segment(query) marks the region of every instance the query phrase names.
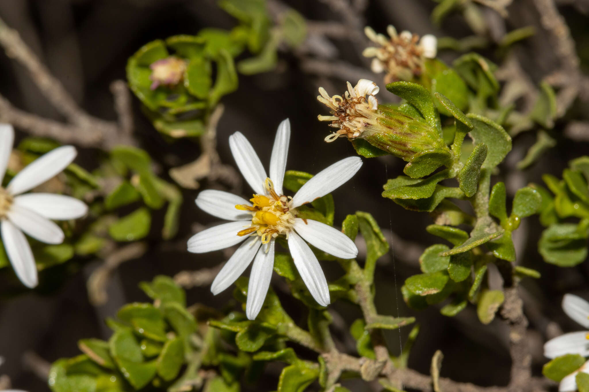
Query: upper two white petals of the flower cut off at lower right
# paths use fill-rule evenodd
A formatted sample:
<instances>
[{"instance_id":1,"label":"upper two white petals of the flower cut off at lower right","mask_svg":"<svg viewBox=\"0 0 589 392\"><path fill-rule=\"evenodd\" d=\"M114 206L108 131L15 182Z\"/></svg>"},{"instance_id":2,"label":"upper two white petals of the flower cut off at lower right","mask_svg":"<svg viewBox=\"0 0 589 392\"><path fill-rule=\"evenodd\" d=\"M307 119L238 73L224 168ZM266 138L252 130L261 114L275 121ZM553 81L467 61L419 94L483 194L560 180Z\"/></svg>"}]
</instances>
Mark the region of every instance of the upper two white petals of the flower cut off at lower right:
<instances>
[{"instance_id":1,"label":"upper two white petals of the flower cut off at lower right","mask_svg":"<svg viewBox=\"0 0 589 392\"><path fill-rule=\"evenodd\" d=\"M568 317L589 329L589 302L573 294L565 294L562 310ZM565 354L589 356L589 331L565 333L544 344L544 356L550 359Z\"/></svg>"}]
</instances>

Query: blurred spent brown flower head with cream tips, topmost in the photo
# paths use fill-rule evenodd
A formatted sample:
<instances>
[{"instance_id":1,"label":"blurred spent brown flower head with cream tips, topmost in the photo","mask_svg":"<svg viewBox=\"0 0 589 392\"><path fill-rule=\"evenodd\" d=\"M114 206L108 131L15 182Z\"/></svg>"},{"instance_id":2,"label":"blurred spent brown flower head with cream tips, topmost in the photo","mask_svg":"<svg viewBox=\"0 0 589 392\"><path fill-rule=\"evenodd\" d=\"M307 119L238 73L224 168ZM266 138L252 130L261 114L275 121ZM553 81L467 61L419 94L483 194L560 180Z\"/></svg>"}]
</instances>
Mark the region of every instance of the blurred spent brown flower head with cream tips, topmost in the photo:
<instances>
[{"instance_id":1,"label":"blurred spent brown flower head with cream tips, topmost in the photo","mask_svg":"<svg viewBox=\"0 0 589 392\"><path fill-rule=\"evenodd\" d=\"M372 72L386 72L385 83L411 81L415 76L421 75L424 59L436 56L438 47L436 37L426 34L420 40L419 35L409 31L398 34L391 25L386 31L389 33L389 38L377 34L368 26L364 29L370 41L378 44L362 52L363 56L373 58L370 65Z\"/></svg>"}]
</instances>

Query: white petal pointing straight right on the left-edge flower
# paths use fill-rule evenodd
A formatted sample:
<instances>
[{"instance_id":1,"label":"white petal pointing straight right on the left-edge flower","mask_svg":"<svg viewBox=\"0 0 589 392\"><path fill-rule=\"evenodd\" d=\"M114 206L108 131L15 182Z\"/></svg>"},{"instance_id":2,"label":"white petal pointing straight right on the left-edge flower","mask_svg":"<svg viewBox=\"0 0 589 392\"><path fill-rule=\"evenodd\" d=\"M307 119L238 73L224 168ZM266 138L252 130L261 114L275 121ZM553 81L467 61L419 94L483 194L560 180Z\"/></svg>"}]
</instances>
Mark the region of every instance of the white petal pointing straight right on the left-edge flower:
<instances>
[{"instance_id":1,"label":"white petal pointing straight right on the left-edge flower","mask_svg":"<svg viewBox=\"0 0 589 392\"><path fill-rule=\"evenodd\" d=\"M86 215L88 206L75 197L53 193L27 193L14 198L14 204L32 210L47 219L70 220Z\"/></svg>"}]
</instances>

